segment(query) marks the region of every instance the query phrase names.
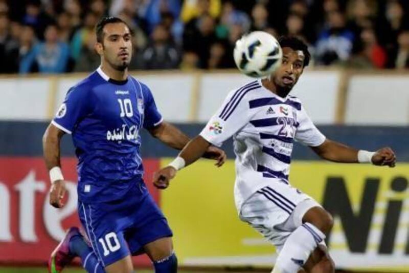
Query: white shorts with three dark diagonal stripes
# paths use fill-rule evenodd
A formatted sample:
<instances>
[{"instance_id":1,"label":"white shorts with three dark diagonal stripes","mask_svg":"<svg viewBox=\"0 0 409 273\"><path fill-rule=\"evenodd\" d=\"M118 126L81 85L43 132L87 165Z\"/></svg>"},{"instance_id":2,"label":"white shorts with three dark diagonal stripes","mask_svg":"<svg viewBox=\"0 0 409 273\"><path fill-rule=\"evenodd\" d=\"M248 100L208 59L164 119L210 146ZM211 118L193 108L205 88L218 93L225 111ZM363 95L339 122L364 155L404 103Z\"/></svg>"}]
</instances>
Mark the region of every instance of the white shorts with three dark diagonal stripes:
<instances>
[{"instance_id":1,"label":"white shorts with three dark diagonal stripes","mask_svg":"<svg viewBox=\"0 0 409 273\"><path fill-rule=\"evenodd\" d=\"M321 207L297 188L275 182L249 197L241 206L239 216L280 251L287 237L302 225L304 214L315 206Z\"/></svg>"}]
</instances>

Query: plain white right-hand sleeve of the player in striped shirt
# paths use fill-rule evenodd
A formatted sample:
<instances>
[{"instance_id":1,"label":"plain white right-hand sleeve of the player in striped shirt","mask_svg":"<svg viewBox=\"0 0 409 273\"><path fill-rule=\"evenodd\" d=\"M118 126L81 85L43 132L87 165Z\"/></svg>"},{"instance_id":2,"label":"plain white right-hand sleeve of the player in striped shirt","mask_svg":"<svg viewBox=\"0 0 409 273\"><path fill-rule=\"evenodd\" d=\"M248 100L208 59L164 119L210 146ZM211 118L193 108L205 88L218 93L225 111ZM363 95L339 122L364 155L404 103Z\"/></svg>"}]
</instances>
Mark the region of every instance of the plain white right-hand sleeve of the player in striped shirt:
<instances>
[{"instance_id":1,"label":"plain white right-hand sleeve of the player in striped shirt","mask_svg":"<svg viewBox=\"0 0 409 273\"><path fill-rule=\"evenodd\" d=\"M297 141L312 147L320 146L324 143L325 136L312 123L304 107L301 107L298 121L299 126L294 137Z\"/></svg>"}]
</instances>

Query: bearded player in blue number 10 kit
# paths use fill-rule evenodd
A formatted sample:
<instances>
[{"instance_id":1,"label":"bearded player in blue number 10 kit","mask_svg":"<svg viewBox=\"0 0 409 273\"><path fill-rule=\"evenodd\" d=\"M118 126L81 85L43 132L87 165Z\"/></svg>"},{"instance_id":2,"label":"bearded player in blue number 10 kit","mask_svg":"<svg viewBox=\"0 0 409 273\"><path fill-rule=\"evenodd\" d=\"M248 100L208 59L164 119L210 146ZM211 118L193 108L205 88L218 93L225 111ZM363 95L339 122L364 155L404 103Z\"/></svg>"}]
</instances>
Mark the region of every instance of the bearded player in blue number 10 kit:
<instances>
[{"instance_id":1,"label":"bearded player in blue number 10 kit","mask_svg":"<svg viewBox=\"0 0 409 273\"><path fill-rule=\"evenodd\" d=\"M181 150L189 138L164 122L152 93L128 75L131 33L119 18L96 27L101 66L71 88L43 137L52 182L50 203L62 207L65 182L60 139L72 134L78 157L78 214L89 243L72 227L53 251L49 271L60 272L79 256L88 272L131 272L131 255L146 253L156 272L176 272L172 231L142 180L140 130ZM207 158L221 166L222 150Z\"/></svg>"}]
</instances>

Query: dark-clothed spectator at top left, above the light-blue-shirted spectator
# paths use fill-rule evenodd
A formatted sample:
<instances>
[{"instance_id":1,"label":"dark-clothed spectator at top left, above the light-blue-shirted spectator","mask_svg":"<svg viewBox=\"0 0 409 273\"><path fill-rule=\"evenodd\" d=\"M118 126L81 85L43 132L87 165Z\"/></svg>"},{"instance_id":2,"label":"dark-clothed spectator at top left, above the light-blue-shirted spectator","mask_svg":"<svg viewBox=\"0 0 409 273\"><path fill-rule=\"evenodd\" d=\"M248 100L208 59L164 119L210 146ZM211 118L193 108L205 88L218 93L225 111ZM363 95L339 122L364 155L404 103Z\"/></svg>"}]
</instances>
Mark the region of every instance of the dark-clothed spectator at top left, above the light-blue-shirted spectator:
<instances>
[{"instance_id":1,"label":"dark-clothed spectator at top left, above the light-blue-shirted spectator","mask_svg":"<svg viewBox=\"0 0 409 273\"><path fill-rule=\"evenodd\" d=\"M48 25L54 23L54 20L41 11L40 0L32 0L26 6L26 14L24 15L22 23L33 26L36 36L39 39L43 39L44 30Z\"/></svg>"}]
</instances>

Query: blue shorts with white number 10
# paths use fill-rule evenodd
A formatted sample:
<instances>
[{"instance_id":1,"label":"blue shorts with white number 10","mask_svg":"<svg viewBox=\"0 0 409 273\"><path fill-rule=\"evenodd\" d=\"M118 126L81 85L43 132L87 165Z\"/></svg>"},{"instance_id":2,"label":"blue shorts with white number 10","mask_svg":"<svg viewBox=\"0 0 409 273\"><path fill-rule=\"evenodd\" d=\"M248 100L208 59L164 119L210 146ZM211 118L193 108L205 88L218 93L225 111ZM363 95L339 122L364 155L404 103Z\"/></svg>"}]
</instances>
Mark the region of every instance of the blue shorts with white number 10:
<instances>
[{"instance_id":1,"label":"blue shorts with white number 10","mask_svg":"<svg viewBox=\"0 0 409 273\"><path fill-rule=\"evenodd\" d=\"M105 266L128 255L143 253L143 246L172 237L162 214L143 181L121 200L78 202L78 214L94 252Z\"/></svg>"}]
</instances>

